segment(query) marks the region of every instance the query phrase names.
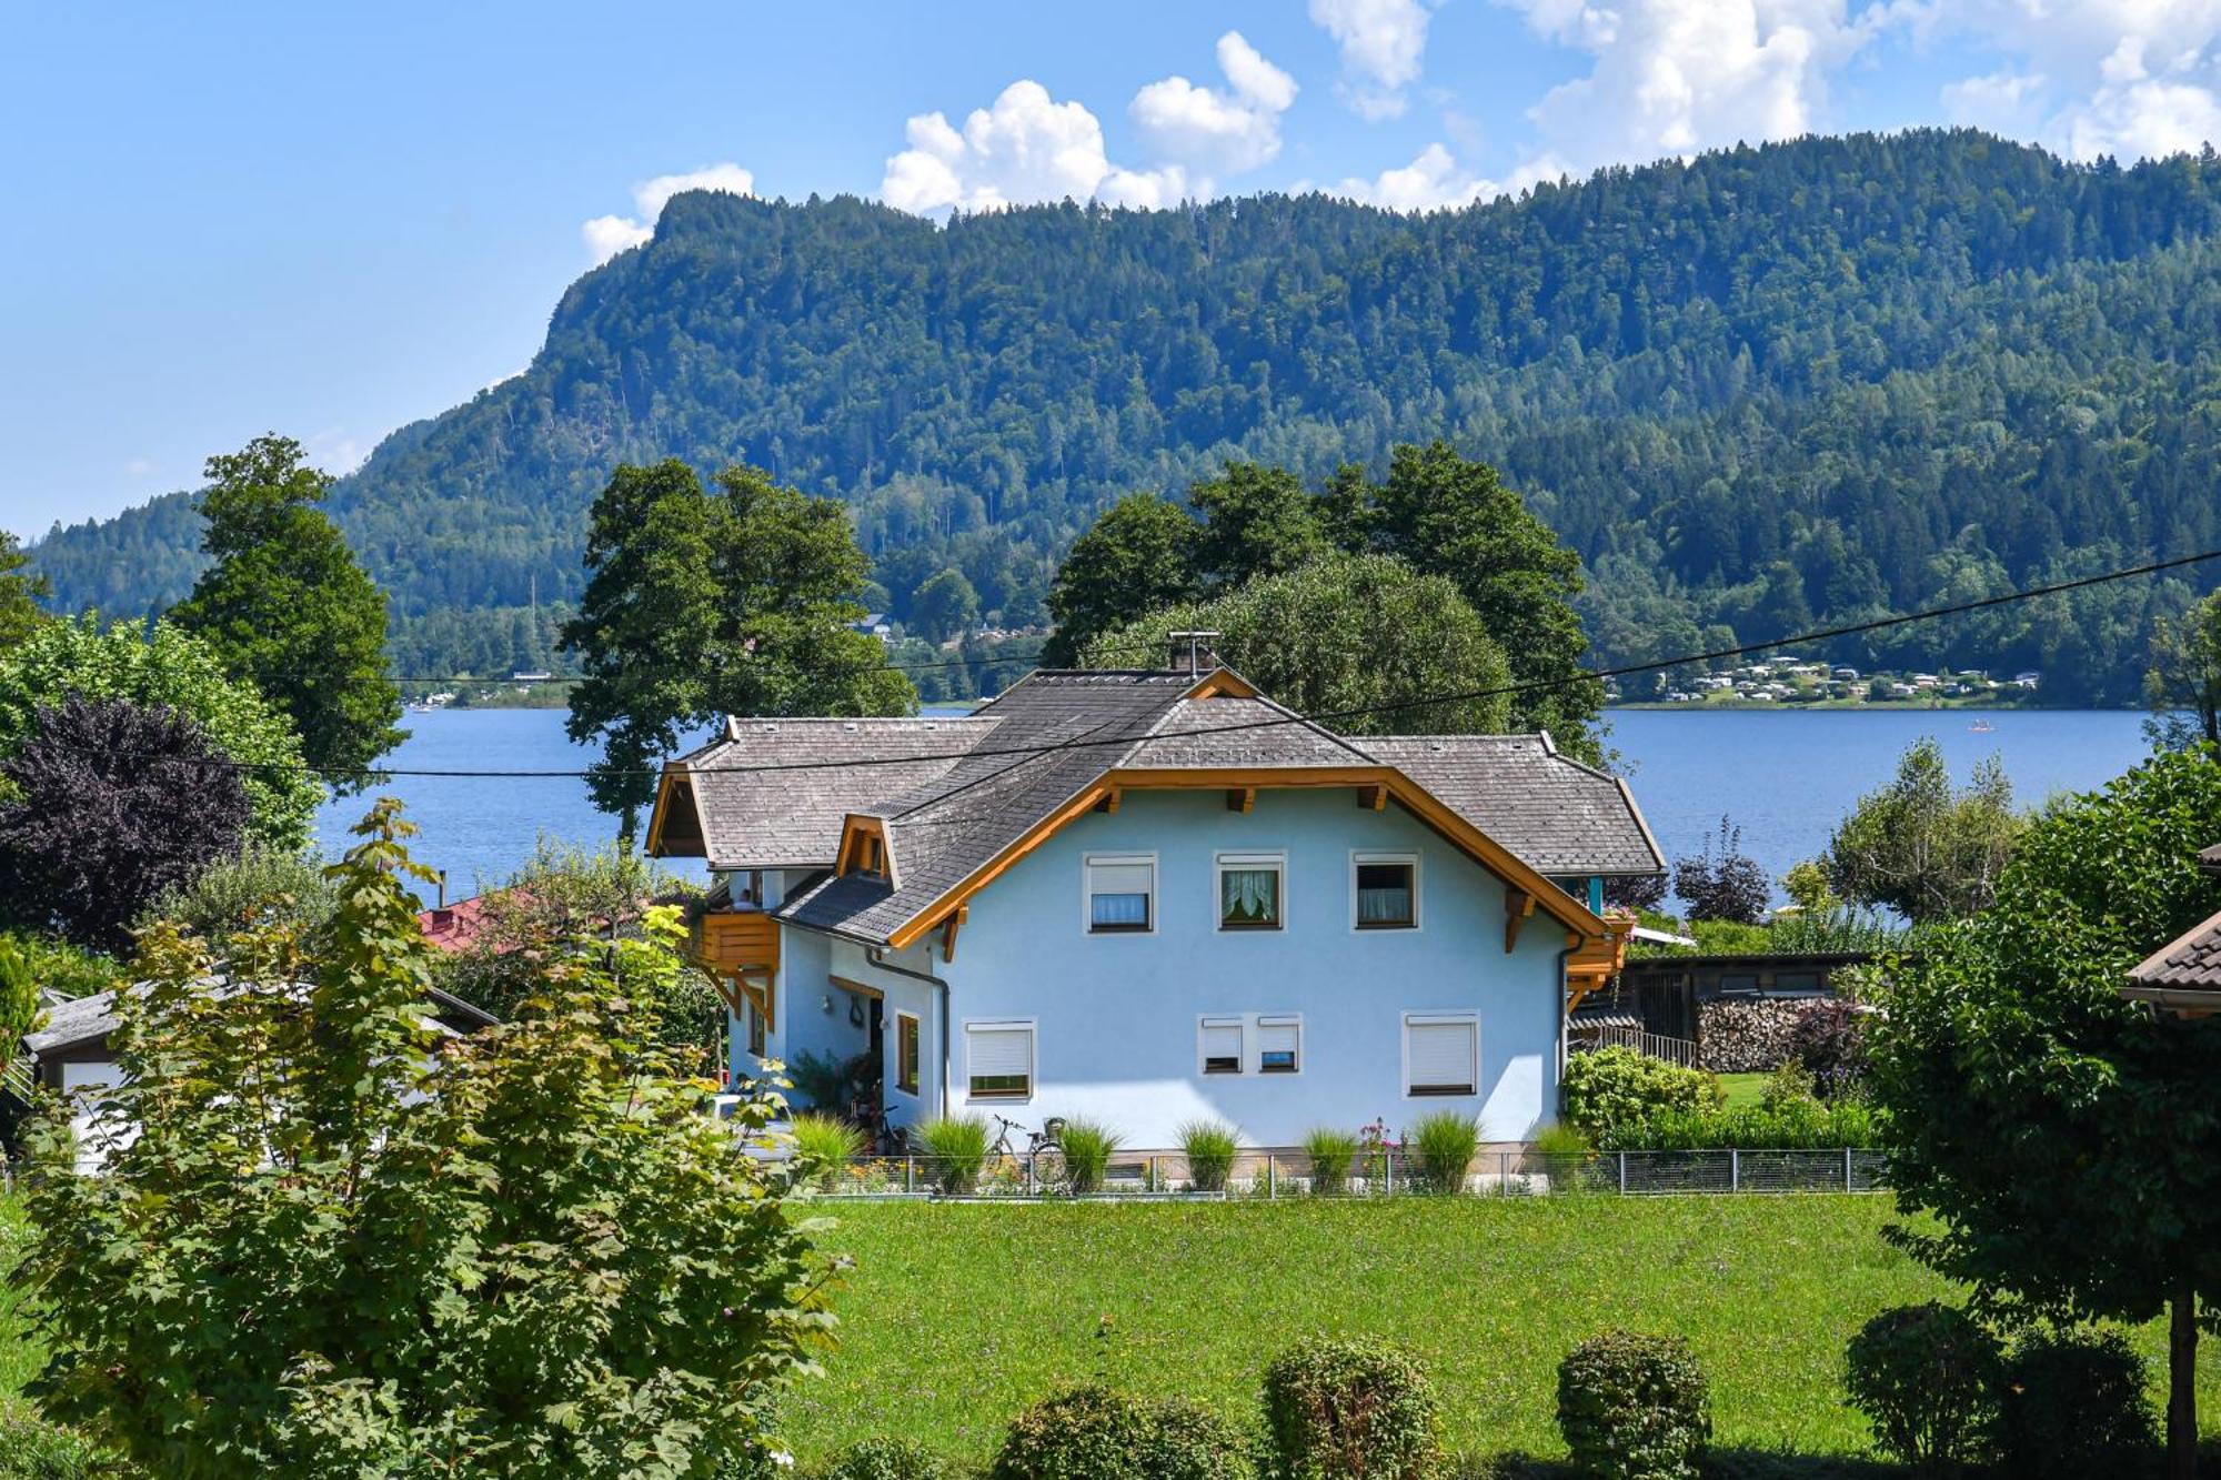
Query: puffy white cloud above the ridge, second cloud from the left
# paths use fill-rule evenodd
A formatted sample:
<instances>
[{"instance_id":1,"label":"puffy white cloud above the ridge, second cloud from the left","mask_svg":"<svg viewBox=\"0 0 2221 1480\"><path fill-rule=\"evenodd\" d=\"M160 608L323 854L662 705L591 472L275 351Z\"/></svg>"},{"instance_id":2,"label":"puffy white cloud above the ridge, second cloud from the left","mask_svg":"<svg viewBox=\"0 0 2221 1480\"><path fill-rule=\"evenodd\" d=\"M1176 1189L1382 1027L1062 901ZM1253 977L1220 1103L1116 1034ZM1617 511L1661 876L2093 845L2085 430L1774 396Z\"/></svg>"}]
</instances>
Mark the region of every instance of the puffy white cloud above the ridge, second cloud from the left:
<instances>
[{"instance_id":1,"label":"puffy white cloud above the ridge, second cloud from the left","mask_svg":"<svg viewBox=\"0 0 2221 1480\"><path fill-rule=\"evenodd\" d=\"M993 211L1035 200L1088 200L1110 173L1104 131L1079 102L1057 102L1031 78L973 109L959 133L944 113L906 127L911 147L886 162L880 196L902 211Z\"/></svg>"}]
</instances>

